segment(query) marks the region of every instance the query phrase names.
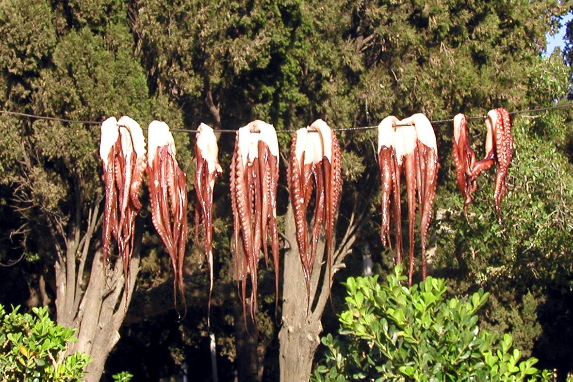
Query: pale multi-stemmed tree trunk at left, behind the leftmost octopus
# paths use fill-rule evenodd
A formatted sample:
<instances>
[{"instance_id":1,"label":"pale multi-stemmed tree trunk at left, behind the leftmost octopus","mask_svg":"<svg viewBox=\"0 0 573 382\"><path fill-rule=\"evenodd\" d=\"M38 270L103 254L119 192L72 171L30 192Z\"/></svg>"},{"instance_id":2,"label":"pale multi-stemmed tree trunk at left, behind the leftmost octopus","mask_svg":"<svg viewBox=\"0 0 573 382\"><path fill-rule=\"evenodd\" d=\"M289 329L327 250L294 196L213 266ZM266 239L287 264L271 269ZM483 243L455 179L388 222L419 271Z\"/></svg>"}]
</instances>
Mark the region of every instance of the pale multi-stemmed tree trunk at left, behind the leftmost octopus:
<instances>
[{"instance_id":1,"label":"pale multi-stemmed tree trunk at left, behind the leftmost octopus","mask_svg":"<svg viewBox=\"0 0 573 382\"><path fill-rule=\"evenodd\" d=\"M92 209L83 236L80 235L80 221L70 223L65 254L58 254L55 265L57 322L77 329L77 341L70 344L68 354L82 352L92 358L86 368L86 382L101 379L107 356L119 341L119 328L127 313L139 271L143 228L138 217L126 293L121 258L110 256L112 267L104 271L101 248L97 251L91 248L100 218L98 212L97 206ZM89 275L84 272L88 255L93 256Z\"/></svg>"}]
</instances>

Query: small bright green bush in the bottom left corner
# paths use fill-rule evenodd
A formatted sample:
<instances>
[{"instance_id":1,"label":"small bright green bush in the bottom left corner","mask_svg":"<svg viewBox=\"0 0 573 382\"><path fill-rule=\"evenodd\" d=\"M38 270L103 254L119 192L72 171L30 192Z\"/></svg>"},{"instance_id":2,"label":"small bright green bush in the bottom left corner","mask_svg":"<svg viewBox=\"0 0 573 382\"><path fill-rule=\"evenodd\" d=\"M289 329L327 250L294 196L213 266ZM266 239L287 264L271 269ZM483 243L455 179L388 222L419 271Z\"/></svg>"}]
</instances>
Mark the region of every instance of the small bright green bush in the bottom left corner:
<instances>
[{"instance_id":1,"label":"small bright green bush in the bottom left corner","mask_svg":"<svg viewBox=\"0 0 573 382\"><path fill-rule=\"evenodd\" d=\"M82 353L65 356L74 330L56 325L47 307L19 314L18 307L6 314L0 305L0 381L83 380L89 357Z\"/></svg>"}]
</instances>

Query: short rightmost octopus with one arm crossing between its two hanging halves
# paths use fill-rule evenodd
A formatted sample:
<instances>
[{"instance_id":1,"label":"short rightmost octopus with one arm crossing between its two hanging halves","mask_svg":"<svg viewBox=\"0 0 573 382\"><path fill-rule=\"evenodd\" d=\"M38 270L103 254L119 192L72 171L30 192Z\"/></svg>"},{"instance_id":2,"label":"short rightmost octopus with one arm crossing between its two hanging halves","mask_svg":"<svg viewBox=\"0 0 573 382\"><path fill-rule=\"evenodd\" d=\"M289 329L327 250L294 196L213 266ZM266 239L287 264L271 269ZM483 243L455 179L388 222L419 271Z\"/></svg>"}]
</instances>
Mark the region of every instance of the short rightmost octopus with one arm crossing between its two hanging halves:
<instances>
[{"instance_id":1,"label":"short rightmost octopus with one arm crossing between its two hanging halves","mask_svg":"<svg viewBox=\"0 0 573 382\"><path fill-rule=\"evenodd\" d=\"M472 202L471 194L477 188L477 177L494 164L496 165L493 199L497 219L501 224L501 200L507 193L505 177L507 177L509 165L513 158L513 135L509 112L504 108L490 110L485 119L485 126L487 129L485 157L476 162L475 155L467 141L466 118L463 114L454 117L454 165L456 166L458 188L465 197L464 212Z\"/></svg>"}]
</instances>

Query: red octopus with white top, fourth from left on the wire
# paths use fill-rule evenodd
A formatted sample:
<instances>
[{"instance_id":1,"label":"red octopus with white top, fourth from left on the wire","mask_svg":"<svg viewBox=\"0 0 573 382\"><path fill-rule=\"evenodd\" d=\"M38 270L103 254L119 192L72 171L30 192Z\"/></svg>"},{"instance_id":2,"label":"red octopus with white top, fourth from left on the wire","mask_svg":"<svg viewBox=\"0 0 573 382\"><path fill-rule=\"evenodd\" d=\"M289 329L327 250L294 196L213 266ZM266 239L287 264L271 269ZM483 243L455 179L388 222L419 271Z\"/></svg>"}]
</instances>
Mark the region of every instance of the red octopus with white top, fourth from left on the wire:
<instances>
[{"instance_id":1,"label":"red octopus with white top, fourth from left on the wire","mask_svg":"<svg viewBox=\"0 0 573 382\"><path fill-rule=\"evenodd\" d=\"M253 319L257 307L258 259L262 249L268 260L269 236L278 295L277 185L276 131L272 125L255 120L237 131L230 180L237 278L245 313L246 284L250 279L249 313Z\"/></svg>"}]
</instances>

